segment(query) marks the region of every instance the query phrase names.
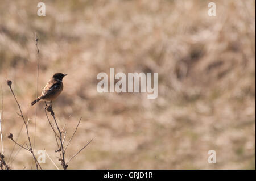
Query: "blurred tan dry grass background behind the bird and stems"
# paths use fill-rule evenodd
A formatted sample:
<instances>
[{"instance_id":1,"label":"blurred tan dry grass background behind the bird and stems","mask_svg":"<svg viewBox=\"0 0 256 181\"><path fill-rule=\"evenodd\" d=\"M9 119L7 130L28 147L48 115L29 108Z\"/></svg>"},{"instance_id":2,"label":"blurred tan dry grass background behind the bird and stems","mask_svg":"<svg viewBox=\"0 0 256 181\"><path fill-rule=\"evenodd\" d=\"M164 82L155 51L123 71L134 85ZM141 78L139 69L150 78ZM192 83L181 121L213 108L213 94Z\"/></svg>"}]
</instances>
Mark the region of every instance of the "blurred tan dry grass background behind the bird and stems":
<instances>
[{"instance_id":1,"label":"blurred tan dry grass background behind the bird and stems","mask_svg":"<svg viewBox=\"0 0 256 181\"><path fill-rule=\"evenodd\" d=\"M37 15L38 2L0 2L0 109L12 169L35 166L6 136L15 140L23 125L7 79L30 119L35 151L46 149L61 168L44 103L29 105L35 32L38 94L53 73L68 74L53 102L67 140L82 117L66 157L94 137L68 169L255 169L255 1L214 1L216 16L199 0L43 1L46 16ZM97 74L109 68L158 72L158 98L98 93ZM18 142L25 141L23 127ZM216 164L208 163L209 150ZM48 158L42 167L55 169Z\"/></svg>"}]
</instances>

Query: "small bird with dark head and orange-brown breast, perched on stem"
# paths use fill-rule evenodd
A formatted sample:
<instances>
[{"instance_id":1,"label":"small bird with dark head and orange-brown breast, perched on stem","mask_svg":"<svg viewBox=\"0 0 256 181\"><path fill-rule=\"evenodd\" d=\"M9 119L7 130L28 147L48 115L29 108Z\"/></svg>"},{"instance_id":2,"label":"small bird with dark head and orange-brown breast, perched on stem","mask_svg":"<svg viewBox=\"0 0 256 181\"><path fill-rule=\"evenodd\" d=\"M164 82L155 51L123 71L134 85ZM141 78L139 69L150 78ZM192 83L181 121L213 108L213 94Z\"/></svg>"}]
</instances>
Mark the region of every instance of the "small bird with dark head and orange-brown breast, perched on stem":
<instances>
[{"instance_id":1,"label":"small bird with dark head and orange-brown breast, perched on stem","mask_svg":"<svg viewBox=\"0 0 256 181\"><path fill-rule=\"evenodd\" d=\"M48 81L46 86L44 87L42 94L38 96L35 100L33 100L30 105L33 106L35 103L43 100L44 102L55 100L57 96L60 95L61 91L63 90L63 82L62 79L67 74L63 73L55 73L53 74L52 78Z\"/></svg>"}]
</instances>

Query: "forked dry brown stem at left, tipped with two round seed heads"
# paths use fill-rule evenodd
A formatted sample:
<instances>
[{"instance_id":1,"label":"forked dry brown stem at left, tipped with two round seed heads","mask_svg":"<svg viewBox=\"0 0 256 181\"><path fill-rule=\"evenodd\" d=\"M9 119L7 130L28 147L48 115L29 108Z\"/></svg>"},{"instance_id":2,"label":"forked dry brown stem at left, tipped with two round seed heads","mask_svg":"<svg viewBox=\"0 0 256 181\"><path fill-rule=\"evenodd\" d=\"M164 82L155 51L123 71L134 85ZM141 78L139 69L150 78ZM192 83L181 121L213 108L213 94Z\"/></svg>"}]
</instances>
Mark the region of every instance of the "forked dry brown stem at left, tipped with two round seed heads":
<instances>
[{"instance_id":1,"label":"forked dry brown stem at left, tipped with two round seed heads","mask_svg":"<svg viewBox=\"0 0 256 181\"><path fill-rule=\"evenodd\" d=\"M29 149L26 149L26 148L24 148L23 146L22 146L22 148L24 148L24 149L30 151L30 153L32 153L32 156L33 156L34 161L35 161L36 169L38 169L38 167L39 167L40 169L42 169L42 167L41 167L40 164L38 163L38 160L36 159L35 154L34 154L34 151L33 151L33 149L32 149L31 140L30 140L30 134L28 133L28 125L27 125L27 123L26 123L26 121L25 121L25 119L24 119L24 116L23 116L22 110L21 110L21 108L20 108L19 102L18 102L18 100L16 99L16 96L14 95L14 92L13 92L13 89L11 88L11 85L9 85L9 87L10 87L11 93L12 93L13 96L14 96L14 99L16 100L16 103L18 104L19 111L20 111L20 116L22 117L22 119L23 119L23 121L24 121L24 125L25 125L25 127L26 127L26 132L27 132L27 137L28 137L28 143L29 143L30 148L29 148ZM13 139L12 139L12 140L13 140ZM13 141L14 141L14 140L13 140ZM14 142L15 142L15 141L14 141ZM15 143L18 144L17 142L15 142ZM19 145L19 144L18 144L18 145ZM19 146L21 146L21 145L19 145Z\"/></svg>"}]
</instances>

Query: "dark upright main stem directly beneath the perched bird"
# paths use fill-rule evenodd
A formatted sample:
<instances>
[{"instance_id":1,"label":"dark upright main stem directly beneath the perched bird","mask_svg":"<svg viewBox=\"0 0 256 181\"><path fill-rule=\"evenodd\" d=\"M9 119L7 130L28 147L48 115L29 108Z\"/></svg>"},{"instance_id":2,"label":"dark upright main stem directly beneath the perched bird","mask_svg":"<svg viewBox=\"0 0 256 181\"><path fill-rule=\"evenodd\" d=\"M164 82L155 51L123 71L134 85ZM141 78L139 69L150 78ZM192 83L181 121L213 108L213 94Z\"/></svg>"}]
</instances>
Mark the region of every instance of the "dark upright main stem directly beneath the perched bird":
<instances>
[{"instance_id":1,"label":"dark upright main stem directly beneath the perched bird","mask_svg":"<svg viewBox=\"0 0 256 181\"><path fill-rule=\"evenodd\" d=\"M46 104L46 102L45 102L45 104ZM56 118L55 118L55 114L54 114L53 109L52 109L52 102L51 102L50 106L48 106L46 104L46 110L51 112L51 116L53 117L53 120L55 121L55 124L56 124L56 127L57 127L57 131L59 132L58 138L60 140L60 148L57 151L61 151L61 156L62 156L62 158L61 158L61 165L62 165L64 170L67 170L68 165L65 163L65 153L64 153L64 147L63 147L62 132L60 131L59 125L57 124L57 121L56 121Z\"/></svg>"}]
</instances>

